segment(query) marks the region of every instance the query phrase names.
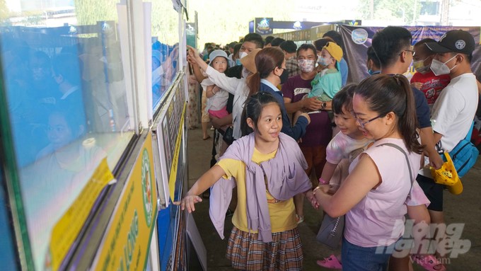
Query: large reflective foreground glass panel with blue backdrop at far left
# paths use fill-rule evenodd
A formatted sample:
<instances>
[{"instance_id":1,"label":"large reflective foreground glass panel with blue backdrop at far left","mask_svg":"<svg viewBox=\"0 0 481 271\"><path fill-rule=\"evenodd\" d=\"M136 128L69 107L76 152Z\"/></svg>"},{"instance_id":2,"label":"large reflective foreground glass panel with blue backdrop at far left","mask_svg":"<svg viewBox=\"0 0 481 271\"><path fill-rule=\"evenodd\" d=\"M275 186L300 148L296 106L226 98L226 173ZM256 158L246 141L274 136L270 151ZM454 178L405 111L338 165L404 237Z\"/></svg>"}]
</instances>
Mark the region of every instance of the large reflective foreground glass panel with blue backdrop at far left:
<instances>
[{"instance_id":1,"label":"large reflective foreground glass panel with blue backdrop at far left","mask_svg":"<svg viewBox=\"0 0 481 271\"><path fill-rule=\"evenodd\" d=\"M2 6L2 83L36 270L49 269L54 224L98 163L107 156L113 168L133 135L117 2Z\"/></svg>"}]
</instances>

